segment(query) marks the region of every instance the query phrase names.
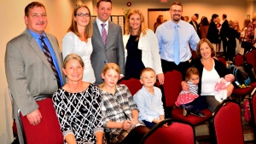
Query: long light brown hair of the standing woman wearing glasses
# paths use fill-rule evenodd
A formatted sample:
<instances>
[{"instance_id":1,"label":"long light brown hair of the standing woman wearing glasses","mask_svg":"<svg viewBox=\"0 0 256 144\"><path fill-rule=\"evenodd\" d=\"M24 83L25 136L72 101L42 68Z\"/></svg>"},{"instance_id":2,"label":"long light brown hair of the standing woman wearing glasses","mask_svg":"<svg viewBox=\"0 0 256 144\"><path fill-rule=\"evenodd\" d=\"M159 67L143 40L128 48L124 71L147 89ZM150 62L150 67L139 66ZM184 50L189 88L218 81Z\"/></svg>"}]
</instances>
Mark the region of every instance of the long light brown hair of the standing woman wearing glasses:
<instances>
[{"instance_id":1,"label":"long light brown hair of the standing woman wearing glasses","mask_svg":"<svg viewBox=\"0 0 256 144\"><path fill-rule=\"evenodd\" d=\"M77 21L74 20L74 17L77 15L78 10L79 10L80 8L82 8L82 7L84 7L85 9L88 9L89 14L90 14L90 9L89 9L86 5L81 4L81 5L76 6L76 7L73 9L71 25L70 25L69 28L67 29L67 32L73 32L73 33L76 34L78 37L81 37L81 36L80 36L79 30L78 30ZM90 37L92 36L92 33L93 33L93 29L92 29L92 22L91 22L91 16L90 16L90 21L89 21L89 24L86 26L84 35L85 35L87 38L90 38Z\"/></svg>"}]
</instances>

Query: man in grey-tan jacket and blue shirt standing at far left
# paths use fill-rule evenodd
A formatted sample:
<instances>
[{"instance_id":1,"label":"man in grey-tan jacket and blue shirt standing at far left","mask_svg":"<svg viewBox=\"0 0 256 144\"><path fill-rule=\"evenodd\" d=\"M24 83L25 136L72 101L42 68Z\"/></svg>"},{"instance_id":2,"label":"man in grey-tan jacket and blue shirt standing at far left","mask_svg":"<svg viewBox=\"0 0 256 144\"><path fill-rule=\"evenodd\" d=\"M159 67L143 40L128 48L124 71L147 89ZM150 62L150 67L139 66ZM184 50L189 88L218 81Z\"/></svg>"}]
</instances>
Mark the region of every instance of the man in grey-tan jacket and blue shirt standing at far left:
<instances>
[{"instance_id":1,"label":"man in grey-tan jacket and blue shirt standing at far left","mask_svg":"<svg viewBox=\"0 0 256 144\"><path fill-rule=\"evenodd\" d=\"M64 82L61 72L62 57L57 38L44 32L47 26L47 14L42 3L32 2L25 8L26 30L7 43L5 53L5 71L9 89L13 96L13 117L18 129L20 144L23 144L22 132L17 118L18 109L26 117L33 129L39 129L42 118L35 97L53 95ZM52 65L44 55L44 43L49 49ZM43 44L42 44L43 43ZM55 67L55 71L53 66ZM44 99L43 99L44 100ZM42 110L44 107L40 107ZM36 135L36 134L35 134ZM47 139L47 137L44 137Z\"/></svg>"}]
</instances>

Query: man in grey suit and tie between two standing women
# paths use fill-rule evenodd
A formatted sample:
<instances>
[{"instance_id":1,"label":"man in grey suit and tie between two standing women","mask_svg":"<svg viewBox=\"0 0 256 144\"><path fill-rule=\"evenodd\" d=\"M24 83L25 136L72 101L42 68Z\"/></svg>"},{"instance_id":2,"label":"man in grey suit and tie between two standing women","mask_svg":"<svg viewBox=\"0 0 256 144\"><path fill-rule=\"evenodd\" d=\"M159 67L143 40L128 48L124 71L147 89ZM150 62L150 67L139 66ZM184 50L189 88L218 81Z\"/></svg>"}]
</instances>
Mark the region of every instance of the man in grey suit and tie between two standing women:
<instances>
[{"instance_id":1,"label":"man in grey suit and tie between two standing women","mask_svg":"<svg viewBox=\"0 0 256 144\"><path fill-rule=\"evenodd\" d=\"M116 63L120 67L121 77L125 74L125 49L122 29L121 26L108 20L111 10L111 0L99 0L96 3L97 17L93 23L93 35L91 37L93 51L90 55L91 65L96 76L96 84L102 84L102 68L109 62ZM104 31L107 31L107 33L104 33ZM106 34L107 40L104 41L102 36Z\"/></svg>"}]
</instances>

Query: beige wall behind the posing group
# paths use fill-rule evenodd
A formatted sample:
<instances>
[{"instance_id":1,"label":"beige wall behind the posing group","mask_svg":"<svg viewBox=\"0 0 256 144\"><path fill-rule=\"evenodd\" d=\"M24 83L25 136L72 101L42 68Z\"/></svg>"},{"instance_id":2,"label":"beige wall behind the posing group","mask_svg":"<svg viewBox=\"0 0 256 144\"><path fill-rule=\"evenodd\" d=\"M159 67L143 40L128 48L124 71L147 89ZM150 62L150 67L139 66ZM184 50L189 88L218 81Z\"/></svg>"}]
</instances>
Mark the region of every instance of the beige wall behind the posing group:
<instances>
[{"instance_id":1,"label":"beige wall behind the posing group","mask_svg":"<svg viewBox=\"0 0 256 144\"><path fill-rule=\"evenodd\" d=\"M140 9L145 16L147 25L148 9L169 9L171 4L171 1L160 3L160 0L130 1L132 3L131 7L127 7L126 3L128 1L113 0L112 14L121 15L125 9ZM26 26L23 20L24 8L27 3L31 2L32 0L2 0L0 5L0 140L3 144L9 144L11 141L10 137L12 137L11 107L4 71L5 46L12 37L19 35L25 30ZM44 3L48 12L49 25L46 32L54 34L58 38L60 45L61 38L67 32L67 27L70 25L71 14L76 3L87 4L91 13L96 14L96 0L39 0L39 2ZM240 24L247 14L252 15L255 12L255 2L251 0L181 0L181 2L183 3L183 15L189 15L190 17L192 14L198 13L200 17L203 15L210 17L213 13L219 15L225 13L228 14L228 19L239 20Z\"/></svg>"}]
</instances>

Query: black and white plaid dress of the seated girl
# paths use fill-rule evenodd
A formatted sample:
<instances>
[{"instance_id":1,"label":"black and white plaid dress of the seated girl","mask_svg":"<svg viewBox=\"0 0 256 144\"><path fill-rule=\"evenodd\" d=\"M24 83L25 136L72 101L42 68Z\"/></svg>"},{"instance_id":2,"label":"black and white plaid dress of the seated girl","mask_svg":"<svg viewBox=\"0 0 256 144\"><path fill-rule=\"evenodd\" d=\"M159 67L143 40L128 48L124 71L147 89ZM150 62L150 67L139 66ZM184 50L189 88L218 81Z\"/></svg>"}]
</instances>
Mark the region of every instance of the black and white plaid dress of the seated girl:
<instances>
[{"instance_id":1,"label":"black and white plaid dress of the seated girl","mask_svg":"<svg viewBox=\"0 0 256 144\"><path fill-rule=\"evenodd\" d=\"M117 84L116 91L110 94L101 90L102 95L102 117L103 125L106 127L108 121L124 122L126 119L131 119L131 111L137 110L137 105L134 103L130 90L125 84ZM124 113L125 112L125 113ZM125 114L128 118L125 117ZM143 122L139 122L143 125ZM131 130L123 129L108 129L110 142L113 144L123 141Z\"/></svg>"}]
</instances>

